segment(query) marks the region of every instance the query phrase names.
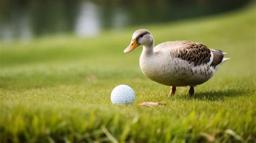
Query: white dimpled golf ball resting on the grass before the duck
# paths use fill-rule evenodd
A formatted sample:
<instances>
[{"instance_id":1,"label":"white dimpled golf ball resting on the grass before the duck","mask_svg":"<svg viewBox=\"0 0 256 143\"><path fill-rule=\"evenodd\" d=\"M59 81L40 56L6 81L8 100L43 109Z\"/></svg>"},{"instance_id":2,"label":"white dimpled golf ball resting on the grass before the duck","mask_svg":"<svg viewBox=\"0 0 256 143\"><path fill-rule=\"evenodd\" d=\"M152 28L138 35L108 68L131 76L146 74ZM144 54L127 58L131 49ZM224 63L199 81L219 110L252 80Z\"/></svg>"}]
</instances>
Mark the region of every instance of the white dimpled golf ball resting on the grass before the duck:
<instances>
[{"instance_id":1,"label":"white dimpled golf ball resting on the grass before the duck","mask_svg":"<svg viewBox=\"0 0 256 143\"><path fill-rule=\"evenodd\" d=\"M112 90L110 99L113 104L131 104L135 93L128 85L118 85Z\"/></svg>"}]
</instances>

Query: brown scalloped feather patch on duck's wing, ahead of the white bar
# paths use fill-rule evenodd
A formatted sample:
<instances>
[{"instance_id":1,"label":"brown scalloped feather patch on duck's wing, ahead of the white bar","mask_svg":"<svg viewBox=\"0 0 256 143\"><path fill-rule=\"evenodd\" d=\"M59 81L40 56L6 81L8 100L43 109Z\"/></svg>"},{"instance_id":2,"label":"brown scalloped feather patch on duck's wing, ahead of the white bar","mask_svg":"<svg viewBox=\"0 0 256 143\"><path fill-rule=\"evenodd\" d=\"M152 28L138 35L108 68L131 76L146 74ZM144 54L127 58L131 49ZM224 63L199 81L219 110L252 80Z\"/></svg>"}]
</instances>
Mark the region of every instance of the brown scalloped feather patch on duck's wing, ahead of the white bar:
<instances>
[{"instance_id":1,"label":"brown scalloped feather patch on duck's wing, ahead of the white bar","mask_svg":"<svg viewBox=\"0 0 256 143\"><path fill-rule=\"evenodd\" d=\"M183 42L183 48L180 49L178 58L187 60L195 66L207 64L210 62L211 50L205 45L194 42Z\"/></svg>"}]
</instances>

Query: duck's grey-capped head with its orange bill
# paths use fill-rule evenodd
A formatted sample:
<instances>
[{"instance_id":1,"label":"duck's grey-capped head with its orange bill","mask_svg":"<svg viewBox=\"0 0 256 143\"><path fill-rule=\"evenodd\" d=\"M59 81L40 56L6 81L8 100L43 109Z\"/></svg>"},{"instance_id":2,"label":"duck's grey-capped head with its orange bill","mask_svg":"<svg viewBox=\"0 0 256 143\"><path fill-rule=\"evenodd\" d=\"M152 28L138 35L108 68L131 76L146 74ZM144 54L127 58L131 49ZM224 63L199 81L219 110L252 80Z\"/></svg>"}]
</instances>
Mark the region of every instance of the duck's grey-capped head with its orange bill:
<instances>
[{"instance_id":1,"label":"duck's grey-capped head with its orange bill","mask_svg":"<svg viewBox=\"0 0 256 143\"><path fill-rule=\"evenodd\" d=\"M149 30L139 29L133 33L131 44L124 50L124 53L131 52L140 45L147 47L152 44L153 36L149 32Z\"/></svg>"}]
</instances>

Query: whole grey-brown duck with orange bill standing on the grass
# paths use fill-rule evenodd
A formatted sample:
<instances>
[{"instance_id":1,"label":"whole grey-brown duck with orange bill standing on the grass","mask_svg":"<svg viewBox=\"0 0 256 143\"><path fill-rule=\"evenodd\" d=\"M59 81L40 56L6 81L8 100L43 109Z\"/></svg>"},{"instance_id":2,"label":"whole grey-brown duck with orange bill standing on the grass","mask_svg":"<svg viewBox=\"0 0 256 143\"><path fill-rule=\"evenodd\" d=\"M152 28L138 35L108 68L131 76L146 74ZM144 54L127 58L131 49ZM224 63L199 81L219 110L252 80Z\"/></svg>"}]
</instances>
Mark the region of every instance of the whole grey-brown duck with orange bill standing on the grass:
<instances>
[{"instance_id":1,"label":"whole grey-brown duck with orange bill standing on the grass","mask_svg":"<svg viewBox=\"0 0 256 143\"><path fill-rule=\"evenodd\" d=\"M194 87L211 79L219 66L230 59L224 58L226 53L221 50L189 40L169 41L154 47L154 38L146 29L133 33L124 53L138 46L143 46L139 58L143 74L159 84L170 86L169 96L173 96L179 86L190 86L188 93L193 96Z\"/></svg>"}]
</instances>

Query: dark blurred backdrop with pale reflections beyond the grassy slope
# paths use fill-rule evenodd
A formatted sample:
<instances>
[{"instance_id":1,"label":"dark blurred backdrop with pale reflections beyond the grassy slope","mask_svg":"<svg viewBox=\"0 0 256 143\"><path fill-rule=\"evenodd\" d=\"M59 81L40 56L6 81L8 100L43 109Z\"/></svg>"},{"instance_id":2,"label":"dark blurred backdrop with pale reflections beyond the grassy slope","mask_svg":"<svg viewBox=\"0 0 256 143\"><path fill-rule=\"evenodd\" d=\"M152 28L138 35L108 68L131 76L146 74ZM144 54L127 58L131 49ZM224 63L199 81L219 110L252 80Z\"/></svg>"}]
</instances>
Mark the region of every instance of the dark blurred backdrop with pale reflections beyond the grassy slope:
<instances>
[{"instance_id":1,"label":"dark blurred backdrop with pale reflections beyond the grassy slope","mask_svg":"<svg viewBox=\"0 0 256 143\"><path fill-rule=\"evenodd\" d=\"M96 37L104 30L170 22L241 8L248 0L1 0L0 42L44 35Z\"/></svg>"}]
</instances>

